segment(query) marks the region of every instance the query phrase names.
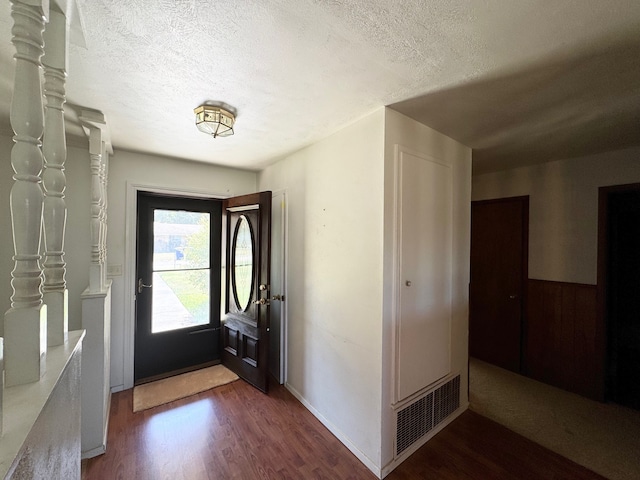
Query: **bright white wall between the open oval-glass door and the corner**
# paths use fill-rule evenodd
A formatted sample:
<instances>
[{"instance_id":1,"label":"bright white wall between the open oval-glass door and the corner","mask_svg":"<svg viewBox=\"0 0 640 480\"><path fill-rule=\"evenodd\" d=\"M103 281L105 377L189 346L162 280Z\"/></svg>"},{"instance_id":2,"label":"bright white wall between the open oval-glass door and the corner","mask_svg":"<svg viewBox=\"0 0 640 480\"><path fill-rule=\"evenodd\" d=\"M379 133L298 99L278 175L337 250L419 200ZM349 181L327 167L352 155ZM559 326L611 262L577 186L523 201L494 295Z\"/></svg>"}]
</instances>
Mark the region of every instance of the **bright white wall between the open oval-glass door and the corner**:
<instances>
[{"instance_id":1,"label":"bright white wall between the open oval-glass door and the corner","mask_svg":"<svg viewBox=\"0 0 640 480\"><path fill-rule=\"evenodd\" d=\"M288 199L287 387L380 468L384 110L263 170Z\"/></svg>"}]
</instances>

